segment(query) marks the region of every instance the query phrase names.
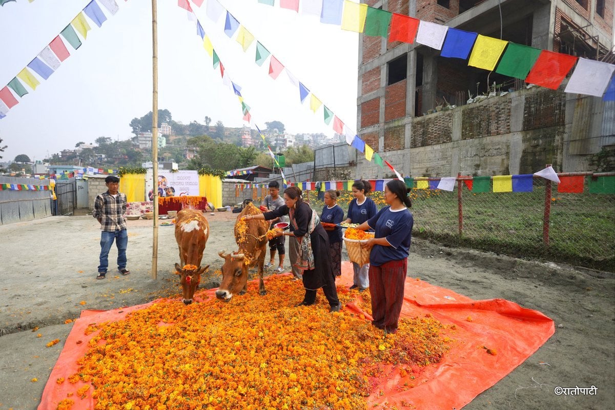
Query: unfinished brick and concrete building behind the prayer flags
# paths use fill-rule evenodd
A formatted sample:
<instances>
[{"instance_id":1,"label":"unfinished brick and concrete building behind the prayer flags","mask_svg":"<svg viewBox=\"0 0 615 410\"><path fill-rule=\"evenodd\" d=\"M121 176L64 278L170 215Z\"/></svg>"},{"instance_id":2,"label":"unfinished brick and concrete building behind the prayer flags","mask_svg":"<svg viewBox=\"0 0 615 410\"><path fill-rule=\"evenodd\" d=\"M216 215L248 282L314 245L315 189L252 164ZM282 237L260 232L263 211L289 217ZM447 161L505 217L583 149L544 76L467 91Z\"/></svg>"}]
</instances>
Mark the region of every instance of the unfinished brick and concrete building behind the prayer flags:
<instances>
[{"instance_id":1,"label":"unfinished brick and concrete building behind the prayer flags","mask_svg":"<svg viewBox=\"0 0 615 410\"><path fill-rule=\"evenodd\" d=\"M371 7L538 49L613 63L614 0L368 0ZM359 136L405 175L588 171L615 148L613 103L362 34ZM496 95L476 103L478 95ZM502 95L504 93L504 95ZM480 99L480 98L479 98ZM609 151L610 152L610 151ZM357 176L390 171L357 154Z\"/></svg>"}]
</instances>

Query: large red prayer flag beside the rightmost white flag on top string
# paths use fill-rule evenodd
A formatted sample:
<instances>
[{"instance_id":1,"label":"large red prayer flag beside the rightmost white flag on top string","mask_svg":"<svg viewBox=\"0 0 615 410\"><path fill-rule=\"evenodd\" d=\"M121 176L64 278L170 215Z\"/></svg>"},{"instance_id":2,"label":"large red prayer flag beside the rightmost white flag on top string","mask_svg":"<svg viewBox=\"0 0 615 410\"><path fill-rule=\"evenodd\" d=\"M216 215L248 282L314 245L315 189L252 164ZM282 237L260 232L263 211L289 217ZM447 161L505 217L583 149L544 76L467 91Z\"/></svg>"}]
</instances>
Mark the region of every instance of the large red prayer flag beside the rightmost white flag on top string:
<instances>
[{"instance_id":1,"label":"large red prayer flag beside the rightmost white flag on top string","mask_svg":"<svg viewBox=\"0 0 615 410\"><path fill-rule=\"evenodd\" d=\"M557 90L576 60L572 55L542 50L525 82Z\"/></svg>"}]
</instances>

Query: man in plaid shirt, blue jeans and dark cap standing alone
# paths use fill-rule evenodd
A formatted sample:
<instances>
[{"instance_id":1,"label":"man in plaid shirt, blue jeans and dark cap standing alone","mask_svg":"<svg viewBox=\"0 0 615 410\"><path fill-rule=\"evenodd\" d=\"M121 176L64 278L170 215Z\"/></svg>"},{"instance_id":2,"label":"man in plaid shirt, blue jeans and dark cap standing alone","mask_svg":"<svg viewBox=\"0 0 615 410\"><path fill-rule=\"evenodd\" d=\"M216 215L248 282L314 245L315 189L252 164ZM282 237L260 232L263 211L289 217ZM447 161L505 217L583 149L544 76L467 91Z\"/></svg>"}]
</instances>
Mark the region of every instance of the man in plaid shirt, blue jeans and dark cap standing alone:
<instances>
[{"instance_id":1,"label":"man in plaid shirt, blue jeans and dark cap standing alone","mask_svg":"<svg viewBox=\"0 0 615 410\"><path fill-rule=\"evenodd\" d=\"M128 232L124 213L128 205L126 194L118 192L119 178L109 175L105 178L107 192L96 197L94 203L94 218L100 223L100 266L98 266L97 279L104 279L109 266L108 256L113 241L117 245L117 270L122 275L130 274L126 269L126 247L128 246Z\"/></svg>"}]
</instances>

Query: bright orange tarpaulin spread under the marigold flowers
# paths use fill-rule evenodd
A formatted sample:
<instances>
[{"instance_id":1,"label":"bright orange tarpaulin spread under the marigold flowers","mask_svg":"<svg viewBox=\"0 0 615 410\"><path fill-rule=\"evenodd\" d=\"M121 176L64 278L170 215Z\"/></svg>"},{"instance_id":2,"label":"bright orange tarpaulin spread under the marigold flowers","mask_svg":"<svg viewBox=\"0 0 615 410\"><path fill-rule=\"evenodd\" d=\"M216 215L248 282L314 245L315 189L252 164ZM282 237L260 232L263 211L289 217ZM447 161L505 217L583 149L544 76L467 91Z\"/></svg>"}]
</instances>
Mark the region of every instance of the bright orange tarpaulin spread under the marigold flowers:
<instances>
[{"instance_id":1,"label":"bright orange tarpaulin spread under the marigold flowers","mask_svg":"<svg viewBox=\"0 0 615 410\"><path fill-rule=\"evenodd\" d=\"M343 262L342 271L342 277L336 282L338 286L348 286L352 283L351 263ZM204 294L215 298L214 291L207 290ZM261 296L248 293L242 297ZM57 384L56 380L77 372L79 366L76 362L87 352L88 341L94 336L84 334L90 323L121 320L128 313L154 303L156 301L106 311L84 310L75 321L47 380L39 410L56 409L58 402L65 399L67 393L84 385L81 380L76 384L70 384L68 380ZM356 305L349 304L343 310L358 309ZM367 313L362 313L369 317ZM523 363L555 331L550 318L514 302L504 299L474 301L422 280L407 278L402 317L424 316L427 313L445 325L455 325L451 350L438 365L416 368L420 377L416 377L416 373L402 377L389 365L367 398L368 408L384 403L399 407L403 401L405 405L411 404L416 409L461 409ZM77 344L78 341L81 343ZM486 353L483 346L495 350L497 354ZM411 376L415 376L415 379L410 380ZM415 387L408 388L410 384ZM91 409L94 406L91 388L85 393L84 399L76 396L70 398L76 402L73 406L75 409Z\"/></svg>"}]
</instances>

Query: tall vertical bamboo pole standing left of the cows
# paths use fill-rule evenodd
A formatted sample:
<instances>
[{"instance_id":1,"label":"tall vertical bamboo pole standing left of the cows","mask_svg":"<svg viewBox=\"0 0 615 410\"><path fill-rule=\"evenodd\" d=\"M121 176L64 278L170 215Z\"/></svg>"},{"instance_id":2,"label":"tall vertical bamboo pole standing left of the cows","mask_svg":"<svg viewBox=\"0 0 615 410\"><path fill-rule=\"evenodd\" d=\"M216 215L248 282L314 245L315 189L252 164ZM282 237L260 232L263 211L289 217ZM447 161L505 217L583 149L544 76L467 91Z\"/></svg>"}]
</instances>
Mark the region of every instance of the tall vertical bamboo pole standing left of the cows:
<instances>
[{"instance_id":1,"label":"tall vertical bamboo pole standing left of the cows","mask_svg":"<svg viewBox=\"0 0 615 410\"><path fill-rule=\"evenodd\" d=\"M152 0L152 167L154 193L154 235L152 244L152 279L158 274L158 29L156 0Z\"/></svg>"}]
</instances>

